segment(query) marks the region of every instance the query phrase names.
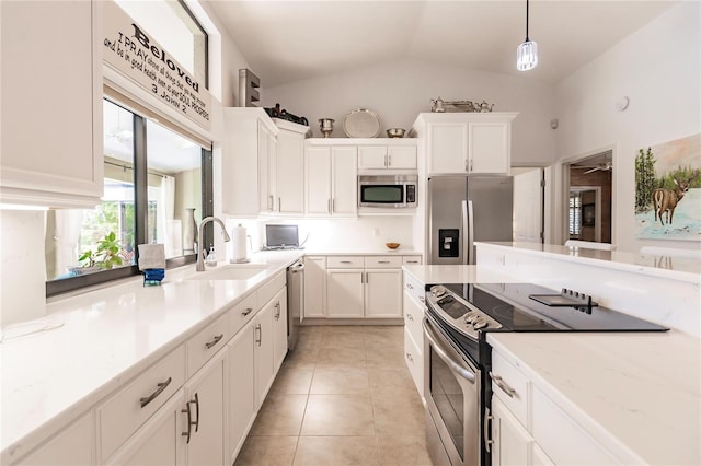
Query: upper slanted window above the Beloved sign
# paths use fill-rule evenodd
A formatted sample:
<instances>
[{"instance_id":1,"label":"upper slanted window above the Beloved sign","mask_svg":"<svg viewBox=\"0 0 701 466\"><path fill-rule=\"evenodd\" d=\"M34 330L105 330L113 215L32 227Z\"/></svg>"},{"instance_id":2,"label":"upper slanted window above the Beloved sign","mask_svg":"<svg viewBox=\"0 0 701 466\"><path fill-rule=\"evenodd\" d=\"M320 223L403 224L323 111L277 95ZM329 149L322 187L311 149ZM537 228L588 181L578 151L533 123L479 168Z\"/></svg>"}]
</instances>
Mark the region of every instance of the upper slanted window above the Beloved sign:
<instances>
[{"instance_id":1,"label":"upper slanted window above the Beloved sign","mask_svg":"<svg viewBox=\"0 0 701 466\"><path fill-rule=\"evenodd\" d=\"M184 2L116 0L116 3L208 88L207 33Z\"/></svg>"}]
</instances>

